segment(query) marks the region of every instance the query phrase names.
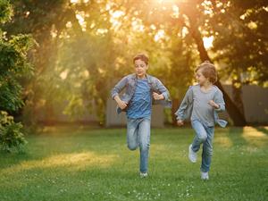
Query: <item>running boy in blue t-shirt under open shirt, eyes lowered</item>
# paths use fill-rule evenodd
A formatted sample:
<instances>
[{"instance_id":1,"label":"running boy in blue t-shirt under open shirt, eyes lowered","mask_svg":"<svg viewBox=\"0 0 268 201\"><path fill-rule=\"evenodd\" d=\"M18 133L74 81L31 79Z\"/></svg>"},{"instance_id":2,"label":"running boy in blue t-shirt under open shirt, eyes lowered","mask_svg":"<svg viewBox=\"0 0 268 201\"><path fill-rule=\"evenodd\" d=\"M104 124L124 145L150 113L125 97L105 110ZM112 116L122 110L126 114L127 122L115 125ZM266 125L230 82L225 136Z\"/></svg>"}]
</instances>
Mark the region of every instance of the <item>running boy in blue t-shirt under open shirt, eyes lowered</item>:
<instances>
[{"instance_id":1,"label":"running boy in blue t-shirt under open shirt, eyes lowered","mask_svg":"<svg viewBox=\"0 0 268 201\"><path fill-rule=\"evenodd\" d=\"M152 102L171 107L170 95L162 82L147 74L148 57L137 54L133 58L135 73L122 78L112 89L117 113L127 113L127 143L130 150L139 147L140 177L147 177L150 146ZM126 89L122 96L119 93Z\"/></svg>"}]
</instances>

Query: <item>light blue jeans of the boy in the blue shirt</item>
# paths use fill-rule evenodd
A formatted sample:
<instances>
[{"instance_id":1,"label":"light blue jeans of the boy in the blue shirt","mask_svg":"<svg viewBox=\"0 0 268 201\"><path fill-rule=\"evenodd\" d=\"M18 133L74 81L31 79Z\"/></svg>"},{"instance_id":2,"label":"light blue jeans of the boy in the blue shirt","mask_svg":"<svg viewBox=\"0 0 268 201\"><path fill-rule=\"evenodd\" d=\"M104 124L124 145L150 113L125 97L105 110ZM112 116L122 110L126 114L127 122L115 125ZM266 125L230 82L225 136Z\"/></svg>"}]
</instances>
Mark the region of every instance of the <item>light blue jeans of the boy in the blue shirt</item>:
<instances>
[{"instance_id":1,"label":"light blue jeans of the boy in the blue shirt","mask_svg":"<svg viewBox=\"0 0 268 201\"><path fill-rule=\"evenodd\" d=\"M130 150L139 147L139 171L148 171L148 156L150 147L151 119L150 117L131 119L128 118L127 142Z\"/></svg>"}]
</instances>

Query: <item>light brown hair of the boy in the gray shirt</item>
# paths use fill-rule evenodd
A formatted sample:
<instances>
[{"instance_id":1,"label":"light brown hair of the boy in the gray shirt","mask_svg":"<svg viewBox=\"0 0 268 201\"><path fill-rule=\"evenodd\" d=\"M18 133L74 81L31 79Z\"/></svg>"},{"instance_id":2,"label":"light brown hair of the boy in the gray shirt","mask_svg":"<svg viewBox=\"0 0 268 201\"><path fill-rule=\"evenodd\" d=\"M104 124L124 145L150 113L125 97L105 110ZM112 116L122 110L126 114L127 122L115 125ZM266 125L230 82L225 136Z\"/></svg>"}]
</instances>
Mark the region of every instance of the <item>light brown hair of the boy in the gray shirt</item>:
<instances>
[{"instance_id":1,"label":"light brown hair of the boy in the gray shirt","mask_svg":"<svg viewBox=\"0 0 268 201\"><path fill-rule=\"evenodd\" d=\"M213 63L205 61L197 66L195 72L197 72L199 69L202 70L204 77L210 80L213 84L217 81L217 71Z\"/></svg>"}]
</instances>

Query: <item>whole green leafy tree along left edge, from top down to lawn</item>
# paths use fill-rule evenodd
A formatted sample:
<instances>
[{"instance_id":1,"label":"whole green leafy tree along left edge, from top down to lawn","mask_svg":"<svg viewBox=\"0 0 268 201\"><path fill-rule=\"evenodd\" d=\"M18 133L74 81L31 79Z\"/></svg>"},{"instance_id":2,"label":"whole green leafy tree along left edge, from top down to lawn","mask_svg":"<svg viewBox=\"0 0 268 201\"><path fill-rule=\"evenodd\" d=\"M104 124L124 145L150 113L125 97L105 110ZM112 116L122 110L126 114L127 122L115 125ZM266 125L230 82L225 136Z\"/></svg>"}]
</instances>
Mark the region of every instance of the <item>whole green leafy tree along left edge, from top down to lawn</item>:
<instances>
[{"instance_id":1,"label":"whole green leafy tree along left edge, from top down to lawn","mask_svg":"<svg viewBox=\"0 0 268 201\"><path fill-rule=\"evenodd\" d=\"M12 13L12 5L1 0L1 23L9 21ZM14 122L13 116L8 113L18 111L23 105L20 79L32 71L27 53L34 41L30 36L21 34L6 38L2 29L0 33L0 146L11 151L26 142L21 133L21 123Z\"/></svg>"}]
</instances>

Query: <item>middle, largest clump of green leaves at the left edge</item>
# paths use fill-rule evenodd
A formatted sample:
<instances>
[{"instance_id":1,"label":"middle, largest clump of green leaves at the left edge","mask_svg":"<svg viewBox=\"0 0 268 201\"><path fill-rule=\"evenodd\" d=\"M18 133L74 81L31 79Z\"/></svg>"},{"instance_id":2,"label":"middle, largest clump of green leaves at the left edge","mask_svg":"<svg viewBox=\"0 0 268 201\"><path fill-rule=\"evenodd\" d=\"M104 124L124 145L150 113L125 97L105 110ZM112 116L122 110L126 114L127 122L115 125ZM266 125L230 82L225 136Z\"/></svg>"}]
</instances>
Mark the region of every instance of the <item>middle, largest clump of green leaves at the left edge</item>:
<instances>
[{"instance_id":1,"label":"middle, largest clump of green leaves at the left edge","mask_svg":"<svg viewBox=\"0 0 268 201\"><path fill-rule=\"evenodd\" d=\"M23 105L20 79L33 72L27 53L35 41L30 35L0 37L0 109L15 112Z\"/></svg>"}]
</instances>

